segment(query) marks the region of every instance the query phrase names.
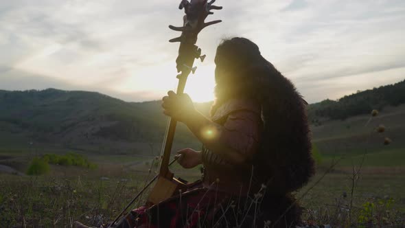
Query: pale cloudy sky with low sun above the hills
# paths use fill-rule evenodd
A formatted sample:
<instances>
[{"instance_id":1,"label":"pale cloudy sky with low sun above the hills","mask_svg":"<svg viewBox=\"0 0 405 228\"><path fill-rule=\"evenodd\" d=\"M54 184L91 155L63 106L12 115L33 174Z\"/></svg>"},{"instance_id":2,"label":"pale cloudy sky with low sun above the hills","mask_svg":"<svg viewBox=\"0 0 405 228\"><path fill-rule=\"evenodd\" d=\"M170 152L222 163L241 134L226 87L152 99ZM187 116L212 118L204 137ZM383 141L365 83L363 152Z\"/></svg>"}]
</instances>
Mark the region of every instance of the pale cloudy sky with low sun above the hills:
<instances>
[{"instance_id":1,"label":"pale cloudy sky with low sun above the hills","mask_svg":"<svg viewBox=\"0 0 405 228\"><path fill-rule=\"evenodd\" d=\"M179 0L0 1L0 89L98 91L128 102L174 90ZM405 79L405 1L218 0L186 92L213 100L216 47L243 36L310 103Z\"/></svg>"}]
</instances>

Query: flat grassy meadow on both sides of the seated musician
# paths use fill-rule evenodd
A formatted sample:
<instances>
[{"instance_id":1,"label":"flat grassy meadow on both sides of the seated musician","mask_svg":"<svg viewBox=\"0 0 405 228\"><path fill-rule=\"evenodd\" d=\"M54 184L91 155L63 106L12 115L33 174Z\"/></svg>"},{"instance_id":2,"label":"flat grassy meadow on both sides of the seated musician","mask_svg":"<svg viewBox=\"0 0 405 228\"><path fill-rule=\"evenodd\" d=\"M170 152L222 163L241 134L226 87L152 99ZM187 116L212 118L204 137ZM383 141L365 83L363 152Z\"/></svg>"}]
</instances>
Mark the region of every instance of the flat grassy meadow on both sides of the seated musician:
<instances>
[{"instance_id":1,"label":"flat grassy meadow on both sides of the seated musician","mask_svg":"<svg viewBox=\"0 0 405 228\"><path fill-rule=\"evenodd\" d=\"M366 218L373 219L373 223L401 223L405 215L402 151L393 149L371 153L364 157L364 161L360 155L343 158L330 172L327 171L332 158L325 157L316 176L297 192L300 204L305 207L304 218L322 224L343 224L347 223L351 208L353 224ZM0 157L0 163L12 160L10 153L2 153ZM14 158L21 163L27 161L21 157L25 157L24 153ZM51 172L44 176L0 174L1 227L70 227L74 220L92 225L106 223L157 171L157 166L152 163L153 157L89 157L91 161L97 161L97 170L53 165ZM360 163L362 168L353 182L352 168L358 168ZM21 164L15 167L24 171ZM148 172L150 168L152 170ZM173 170L189 181L200 176L198 168L185 171L176 165ZM323 176L325 172L327 174ZM144 197L133 207L143 201ZM369 207L375 214L367 214Z\"/></svg>"}]
</instances>

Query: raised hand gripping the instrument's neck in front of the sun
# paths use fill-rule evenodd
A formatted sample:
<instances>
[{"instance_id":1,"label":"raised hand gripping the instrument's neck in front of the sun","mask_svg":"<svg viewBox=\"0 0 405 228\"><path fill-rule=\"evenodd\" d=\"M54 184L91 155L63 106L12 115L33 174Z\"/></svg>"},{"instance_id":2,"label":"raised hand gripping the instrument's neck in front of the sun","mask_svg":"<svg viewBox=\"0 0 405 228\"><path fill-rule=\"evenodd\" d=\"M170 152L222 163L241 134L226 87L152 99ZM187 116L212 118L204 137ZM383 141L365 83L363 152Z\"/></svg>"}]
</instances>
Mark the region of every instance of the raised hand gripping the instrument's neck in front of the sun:
<instances>
[{"instance_id":1,"label":"raised hand gripping the instrument's neck in front of the sun","mask_svg":"<svg viewBox=\"0 0 405 228\"><path fill-rule=\"evenodd\" d=\"M196 111L193 101L187 93L178 95L174 91L169 91L162 100L163 113L180 122L185 122L187 117Z\"/></svg>"}]
</instances>

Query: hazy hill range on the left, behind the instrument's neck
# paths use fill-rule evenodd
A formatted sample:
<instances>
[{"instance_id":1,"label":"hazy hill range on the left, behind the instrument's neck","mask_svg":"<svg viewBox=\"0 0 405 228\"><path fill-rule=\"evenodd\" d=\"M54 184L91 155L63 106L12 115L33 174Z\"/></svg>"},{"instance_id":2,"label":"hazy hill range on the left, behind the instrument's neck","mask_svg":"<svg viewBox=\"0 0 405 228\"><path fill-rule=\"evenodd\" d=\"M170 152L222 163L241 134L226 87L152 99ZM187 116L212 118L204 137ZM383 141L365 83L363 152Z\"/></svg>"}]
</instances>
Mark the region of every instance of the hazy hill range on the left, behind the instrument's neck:
<instances>
[{"instance_id":1,"label":"hazy hill range on the left, behind the instrument's neck","mask_svg":"<svg viewBox=\"0 0 405 228\"><path fill-rule=\"evenodd\" d=\"M199 104L207 113L209 104ZM124 102L86 91L0 91L0 146L150 153L163 141L161 102ZM178 144L198 142L178 124ZM157 151L154 152L155 154Z\"/></svg>"}]
</instances>

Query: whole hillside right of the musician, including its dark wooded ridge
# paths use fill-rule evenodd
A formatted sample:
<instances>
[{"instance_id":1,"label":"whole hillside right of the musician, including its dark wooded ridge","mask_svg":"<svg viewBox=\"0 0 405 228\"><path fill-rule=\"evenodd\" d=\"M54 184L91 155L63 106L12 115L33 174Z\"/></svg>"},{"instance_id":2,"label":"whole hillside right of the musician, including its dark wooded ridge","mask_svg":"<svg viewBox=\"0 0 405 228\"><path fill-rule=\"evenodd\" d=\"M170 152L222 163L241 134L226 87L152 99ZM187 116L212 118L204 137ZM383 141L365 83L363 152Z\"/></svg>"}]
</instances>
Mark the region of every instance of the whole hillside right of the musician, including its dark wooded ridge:
<instances>
[{"instance_id":1,"label":"whole hillside right of the musician, including its dark wooded ridge","mask_svg":"<svg viewBox=\"0 0 405 228\"><path fill-rule=\"evenodd\" d=\"M375 117L371 116L373 109L379 112ZM380 165L391 166L395 157L405 155L405 80L336 101L311 104L308 115L313 142L325 157L351 159L375 152L386 155L380 159ZM377 132L380 125L384 126L384 133ZM384 145L386 137L391 139L390 145ZM392 162L386 163L387 159ZM349 160L343 163L350 163Z\"/></svg>"}]
</instances>

